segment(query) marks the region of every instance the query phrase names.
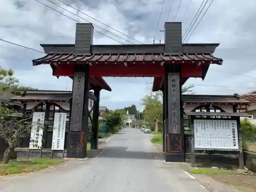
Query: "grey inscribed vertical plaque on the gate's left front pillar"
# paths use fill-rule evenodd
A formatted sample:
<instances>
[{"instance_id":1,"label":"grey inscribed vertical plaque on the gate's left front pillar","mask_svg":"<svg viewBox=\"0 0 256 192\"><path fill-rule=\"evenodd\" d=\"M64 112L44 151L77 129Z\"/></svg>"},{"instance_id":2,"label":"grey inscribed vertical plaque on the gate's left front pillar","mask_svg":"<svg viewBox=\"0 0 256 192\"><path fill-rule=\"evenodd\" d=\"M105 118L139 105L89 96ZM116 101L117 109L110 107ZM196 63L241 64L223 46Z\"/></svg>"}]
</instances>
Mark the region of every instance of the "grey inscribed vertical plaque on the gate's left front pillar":
<instances>
[{"instance_id":1,"label":"grey inscribed vertical plaque on the gate's left front pillar","mask_svg":"<svg viewBox=\"0 0 256 192\"><path fill-rule=\"evenodd\" d=\"M85 76L82 72L74 74L70 131L81 131Z\"/></svg>"}]
</instances>

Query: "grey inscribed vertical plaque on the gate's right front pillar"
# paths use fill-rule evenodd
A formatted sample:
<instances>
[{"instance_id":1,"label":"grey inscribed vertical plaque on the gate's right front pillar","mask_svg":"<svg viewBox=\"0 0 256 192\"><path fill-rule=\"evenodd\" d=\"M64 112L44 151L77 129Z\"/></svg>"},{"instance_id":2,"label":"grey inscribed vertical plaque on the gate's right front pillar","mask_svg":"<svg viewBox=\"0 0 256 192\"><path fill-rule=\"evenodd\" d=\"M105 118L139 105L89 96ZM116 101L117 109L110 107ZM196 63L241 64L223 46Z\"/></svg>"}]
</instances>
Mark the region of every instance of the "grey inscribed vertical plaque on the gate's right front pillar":
<instances>
[{"instance_id":1,"label":"grey inscribed vertical plaque on the gate's right front pillar","mask_svg":"<svg viewBox=\"0 0 256 192\"><path fill-rule=\"evenodd\" d=\"M180 75L168 73L168 134L181 134Z\"/></svg>"}]
</instances>

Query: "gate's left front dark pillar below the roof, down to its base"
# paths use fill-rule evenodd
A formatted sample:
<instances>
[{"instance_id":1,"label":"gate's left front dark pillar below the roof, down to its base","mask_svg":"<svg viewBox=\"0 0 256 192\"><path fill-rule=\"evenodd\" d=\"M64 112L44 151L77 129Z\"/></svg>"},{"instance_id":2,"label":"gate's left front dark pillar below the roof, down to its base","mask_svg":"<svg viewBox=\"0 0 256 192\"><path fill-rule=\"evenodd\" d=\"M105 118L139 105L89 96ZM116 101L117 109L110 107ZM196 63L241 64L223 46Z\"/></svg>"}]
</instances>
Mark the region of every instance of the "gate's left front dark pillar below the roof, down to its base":
<instances>
[{"instance_id":1,"label":"gate's left front dark pillar below the roof, down to its base","mask_svg":"<svg viewBox=\"0 0 256 192\"><path fill-rule=\"evenodd\" d=\"M89 65L75 66L67 147L68 158L87 156L89 81Z\"/></svg>"}]
</instances>

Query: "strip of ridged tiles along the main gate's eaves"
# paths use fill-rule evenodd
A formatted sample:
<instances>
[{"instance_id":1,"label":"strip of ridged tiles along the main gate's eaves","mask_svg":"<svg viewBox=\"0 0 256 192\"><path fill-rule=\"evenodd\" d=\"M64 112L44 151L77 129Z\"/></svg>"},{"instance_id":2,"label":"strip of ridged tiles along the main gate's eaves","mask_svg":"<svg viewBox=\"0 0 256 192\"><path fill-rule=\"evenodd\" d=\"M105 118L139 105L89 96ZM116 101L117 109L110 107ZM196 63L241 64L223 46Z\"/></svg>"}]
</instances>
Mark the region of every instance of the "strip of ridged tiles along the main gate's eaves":
<instances>
[{"instance_id":1,"label":"strip of ridged tiles along the main gate's eaves","mask_svg":"<svg viewBox=\"0 0 256 192\"><path fill-rule=\"evenodd\" d=\"M136 62L136 61L202 61L221 65L222 59L212 53L202 54L164 54L164 53L127 53L127 54L74 54L74 53L52 53L44 57L32 60L33 65L50 62Z\"/></svg>"}]
</instances>

